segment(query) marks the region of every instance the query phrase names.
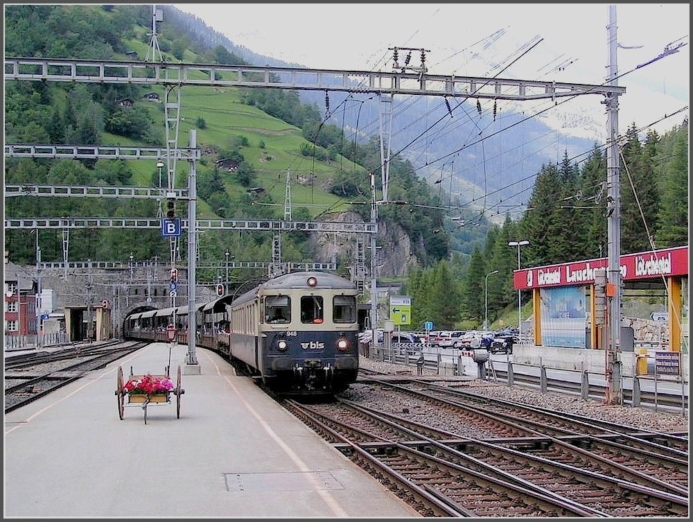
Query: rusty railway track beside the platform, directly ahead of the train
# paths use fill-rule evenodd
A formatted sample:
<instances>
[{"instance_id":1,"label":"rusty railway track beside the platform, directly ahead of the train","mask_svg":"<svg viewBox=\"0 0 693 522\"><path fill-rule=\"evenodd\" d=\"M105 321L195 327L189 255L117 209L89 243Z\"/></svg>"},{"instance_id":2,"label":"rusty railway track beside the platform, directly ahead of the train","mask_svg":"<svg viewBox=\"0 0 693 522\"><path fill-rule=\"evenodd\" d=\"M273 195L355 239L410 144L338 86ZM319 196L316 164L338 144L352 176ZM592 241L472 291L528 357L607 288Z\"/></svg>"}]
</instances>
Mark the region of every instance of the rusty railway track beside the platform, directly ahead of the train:
<instances>
[{"instance_id":1,"label":"rusty railway track beside the platform, directly ahead of the train","mask_svg":"<svg viewBox=\"0 0 693 522\"><path fill-rule=\"evenodd\" d=\"M283 403L423 516L682 516L688 511L686 496L665 491L662 484L664 489L631 482L642 477L591 455L583 455L589 465L566 464L351 401Z\"/></svg>"}]
</instances>

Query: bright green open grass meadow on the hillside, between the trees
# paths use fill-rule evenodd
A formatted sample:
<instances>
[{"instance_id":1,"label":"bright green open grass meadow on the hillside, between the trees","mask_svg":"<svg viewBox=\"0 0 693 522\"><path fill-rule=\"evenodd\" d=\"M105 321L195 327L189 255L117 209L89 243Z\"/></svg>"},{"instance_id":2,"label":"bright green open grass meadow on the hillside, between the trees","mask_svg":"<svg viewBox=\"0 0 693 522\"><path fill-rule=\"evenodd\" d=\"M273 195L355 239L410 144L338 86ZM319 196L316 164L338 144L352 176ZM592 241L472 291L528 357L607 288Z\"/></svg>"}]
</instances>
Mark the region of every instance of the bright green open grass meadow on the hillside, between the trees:
<instances>
[{"instance_id":1,"label":"bright green open grass meadow on the hillside, between the trees","mask_svg":"<svg viewBox=\"0 0 693 522\"><path fill-rule=\"evenodd\" d=\"M128 42L128 49L136 51L143 58L147 55L148 47L139 40ZM166 60L174 62L173 58ZM124 58L123 58L124 59ZM185 62L199 62L197 55L186 51ZM150 89L164 99L164 88L155 86ZM240 153L251 164L257 178L255 186L260 186L270 195L277 207L275 215L283 216L286 196L286 174L290 173L290 195L292 208L306 207L310 218L315 218L324 211L342 212L351 210L345 200L325 191L330 186L330 180L340 170L340 166L353 175L363 176L367 173L361 166L354 166L347 159L337 158L335 162L326 164L312 157L301 155L301 146L309 144L301 137L301 129L269 116L257 107L242 103L240 89L224 87L182 87L181 112L179 122L178 146L185 148L189 143L189 131L196 128L198 119L203 119L205 127L197 129L197 146L200 149L220 148L231 150L238 137L247 139L247 146L240 148ZM146 103L152 114L152 121L158 125L161 122L164 132L164 107L161 103L136 101ZM105 145L142 146L141 143L105 134ZM216 159L216 158L215 158ZM209 156L202 155L198 163L198 173L204 168L212 168ZM134 172L133 182L138 186L150 186L152 176L157 175L157 168L149 162L134 162L130 166ZM188 164L177 162L177 186L186 183ZM226 190L230 198L237 200L246 189L240 186L233 176L225 176ZM214 218L213 212L204 202L199 202L198 216Z\"/></svg>"}]
</instances>

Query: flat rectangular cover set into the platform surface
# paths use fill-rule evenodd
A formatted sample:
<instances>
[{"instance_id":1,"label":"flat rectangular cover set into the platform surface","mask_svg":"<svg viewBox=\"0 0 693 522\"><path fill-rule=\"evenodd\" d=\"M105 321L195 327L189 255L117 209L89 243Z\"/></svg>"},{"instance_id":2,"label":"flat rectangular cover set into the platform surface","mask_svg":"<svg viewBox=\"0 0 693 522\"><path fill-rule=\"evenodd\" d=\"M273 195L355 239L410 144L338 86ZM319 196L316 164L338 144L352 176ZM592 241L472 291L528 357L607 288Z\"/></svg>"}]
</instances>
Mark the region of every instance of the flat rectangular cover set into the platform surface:
<instances>
[{"instance_id":1,"label":"flat rectangular cover set into the platform surface","mask_svg":"<svg viewBox=\"0 0 693 522\"><path fill-rule=\"evenodd\" d=\"M329 471L224 473L228 491L319 491L344 489Z\"/></svg>"}]
</instances>

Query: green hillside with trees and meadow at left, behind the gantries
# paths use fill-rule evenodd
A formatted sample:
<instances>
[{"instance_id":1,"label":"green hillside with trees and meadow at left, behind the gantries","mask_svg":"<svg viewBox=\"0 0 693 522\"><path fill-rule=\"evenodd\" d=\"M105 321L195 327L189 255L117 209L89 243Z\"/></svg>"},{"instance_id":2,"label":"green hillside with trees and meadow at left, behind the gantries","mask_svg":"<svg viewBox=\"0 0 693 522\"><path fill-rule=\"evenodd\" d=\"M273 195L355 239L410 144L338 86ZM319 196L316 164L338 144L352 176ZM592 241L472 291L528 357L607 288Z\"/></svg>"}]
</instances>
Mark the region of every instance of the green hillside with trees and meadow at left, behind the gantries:
<instances>
[{"instance_id":1,"label":"green hillside with trees and meadow at left, behind the gantries","mask_svg":"<svg viewBox=\"0 0 693 522\"><path fill-rule=\"evenodd\" d=\"M86 20L90 21L87 26ZM149 27L149 6L10 6L6 9L6 55L142 60L149 51ZM76 34L80 37L75 38ZM159 44L166 62L243 63L219 46L209 49L195 42L184 27L169 24ZM345 211L369 218L369 172L376 173L376 199L380 199L377 140L358 146L344 143L341 130L324 125L317 107L301 106L295 93L190 86L178 89L181 110L177 145L187 147L190 131L195 129L197 147L202 150L197 164L198 218L281 219L285 216L287 175L293 219L324 219L327 214ZM148 98L152 93L159 101ZM177 94L168 93L173 101ZM164 148L166 128L161 101L165 97L163 86L9 82L6 143ZM132 101L132 105L124 106L123 100ZM263 109L287 114L294 123L270 116ZM344 150L349 150L351 157L343 155ZM187 183L189 166L181 161L176 164L175 186L182 187ZM160 176L154 162L139 160L8 159L6 169L6 182L10 184L158 186ZM163 181L166 184L166 179ZM416 178L407 162L391 162L390 193L417 205L383 208L380 219L396 220L418 239L414 244L421 262L445 259L449 241L440 234L441 212L432 205L429 187ZM15 198L8 202L6 211L17 217L157 216L157 203L152 201L58 199ZM21 231L7 232L6 249L13 261L31 263L34 248L30 238ZM141 232L140 238L146 241L135 245L128 241L128 234L76 229L72 232L71 257L119 259L134 251L138 259L148 259L167 249L157 231ZM437 234L435 241L428 241L433 234ZM39 235L44 261L62 259L60 234L40 231ZM256 234L252 241L246 241L243 234L228 235L213 231L200 234L202 255L220 259L225 247L232 247L245 250L245 259L271 259L271 234ZM283 260L314 259L311 248L306 236L289 234L282 243Z\"/></svg>"}]
</instances>

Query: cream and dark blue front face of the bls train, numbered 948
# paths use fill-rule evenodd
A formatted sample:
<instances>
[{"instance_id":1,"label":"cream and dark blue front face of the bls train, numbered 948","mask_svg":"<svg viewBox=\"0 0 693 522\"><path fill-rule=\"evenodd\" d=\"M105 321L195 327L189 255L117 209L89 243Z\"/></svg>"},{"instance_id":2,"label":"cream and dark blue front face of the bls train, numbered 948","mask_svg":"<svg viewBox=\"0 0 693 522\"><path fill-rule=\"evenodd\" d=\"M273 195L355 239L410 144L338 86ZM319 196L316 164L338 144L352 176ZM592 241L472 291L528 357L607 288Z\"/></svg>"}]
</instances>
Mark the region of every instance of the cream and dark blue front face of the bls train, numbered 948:
<instances>
[{"instance_id":1,"label":"cream and dark blue front face of the bls train, numbered 948","mask_svg":"<svg viewBox=\"0 0 693 522\"><path fill-rule=\"evenodd\" d=\"M265 383L281 392L346 390L358 376L357 290L327 275L304 281L265 296Z\"/></svg>"}]
</instances>

